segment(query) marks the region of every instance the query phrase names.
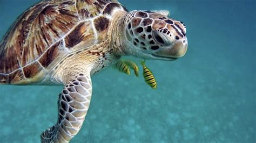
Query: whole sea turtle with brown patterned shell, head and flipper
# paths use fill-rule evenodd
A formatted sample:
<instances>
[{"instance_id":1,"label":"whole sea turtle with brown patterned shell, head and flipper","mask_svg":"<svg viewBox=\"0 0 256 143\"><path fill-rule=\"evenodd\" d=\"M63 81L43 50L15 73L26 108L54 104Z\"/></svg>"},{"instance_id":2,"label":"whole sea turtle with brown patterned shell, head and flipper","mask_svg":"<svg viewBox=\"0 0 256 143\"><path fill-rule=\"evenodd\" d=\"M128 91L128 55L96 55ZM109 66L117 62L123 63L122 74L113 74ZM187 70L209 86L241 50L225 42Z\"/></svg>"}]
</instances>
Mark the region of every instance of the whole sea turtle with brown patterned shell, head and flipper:
<instances>
[{"instance_id":1,"label":"whole sea turtle with brown patterned shell, head and flipper","mask_svg":"<svg viewBox=\"0 0 256 143\"><path fill-rule=\"evenodd\" d=\"M41 1L3 38L0 83L64 85L57 123L41 134L41 141L69 142L89 109L91 76L123 55L175 60L186 53L186 26L167 15L129 12L115 0Z\"/></svg>"}]
</instances>

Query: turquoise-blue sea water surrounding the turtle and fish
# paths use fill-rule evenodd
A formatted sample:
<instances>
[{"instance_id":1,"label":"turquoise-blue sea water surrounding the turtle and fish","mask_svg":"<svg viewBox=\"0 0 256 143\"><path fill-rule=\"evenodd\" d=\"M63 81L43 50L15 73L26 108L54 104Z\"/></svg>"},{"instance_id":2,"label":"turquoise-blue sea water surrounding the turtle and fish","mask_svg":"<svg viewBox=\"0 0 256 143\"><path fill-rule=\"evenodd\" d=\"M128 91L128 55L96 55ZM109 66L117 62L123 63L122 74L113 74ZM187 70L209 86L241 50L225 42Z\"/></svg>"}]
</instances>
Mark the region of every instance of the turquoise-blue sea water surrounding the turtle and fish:
<instances>
[{"instance_id":1,"label":"turquoise-blue sea water surrounding the turtle and fish","mask_svg":"<svg viewBox=\"0 0 256 143\"><path fill-rule=\"evenodd\" d=\"M35 2L0 0L0 37ZM113 68L94 76L89 113L71 142L255 142L255 1L120 2L170 10L187 26L187 54L146 62L157 90ZM56 123L61 89L1 85L0 142L39 142Z\"/></svg>"}]
</instances>

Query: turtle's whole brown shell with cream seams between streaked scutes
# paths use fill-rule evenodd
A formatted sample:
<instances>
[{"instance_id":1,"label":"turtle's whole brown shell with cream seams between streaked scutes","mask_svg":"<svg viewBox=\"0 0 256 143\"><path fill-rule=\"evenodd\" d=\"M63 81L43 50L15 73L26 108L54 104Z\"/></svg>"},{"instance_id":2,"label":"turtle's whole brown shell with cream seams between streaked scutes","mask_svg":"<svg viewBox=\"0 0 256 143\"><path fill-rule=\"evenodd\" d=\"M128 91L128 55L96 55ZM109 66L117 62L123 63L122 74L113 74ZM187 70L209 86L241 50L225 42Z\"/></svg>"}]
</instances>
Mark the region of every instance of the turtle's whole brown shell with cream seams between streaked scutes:
<instances>
[{"instance_id":1,"label":"turtle's whole brown shell with cream seams between streaked scutes","mask_svg":"<svg viewBox=\"0 0 256 143\"><path fill-rule=\"evenodd\" d=\"M69 53L104 41L117 1L42 1L26 10L0 44L0 83L41 81Z\"/></svg>"}]
</instances>

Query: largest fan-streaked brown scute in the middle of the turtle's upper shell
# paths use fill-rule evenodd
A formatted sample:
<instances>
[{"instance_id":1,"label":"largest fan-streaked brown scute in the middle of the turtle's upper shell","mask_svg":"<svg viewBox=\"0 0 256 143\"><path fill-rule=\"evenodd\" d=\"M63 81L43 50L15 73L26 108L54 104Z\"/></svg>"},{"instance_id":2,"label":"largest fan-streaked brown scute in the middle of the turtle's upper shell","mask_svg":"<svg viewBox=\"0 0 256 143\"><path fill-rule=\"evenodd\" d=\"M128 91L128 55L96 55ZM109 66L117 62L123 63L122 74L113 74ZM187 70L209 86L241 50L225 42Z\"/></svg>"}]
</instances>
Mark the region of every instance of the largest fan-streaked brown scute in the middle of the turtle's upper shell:
<instances>
[{"instance_id":1,"label":"largest fan-streaked brown scute in the middle of the turtle's upper shell","mask_svg":"<svg viewBox=\"0 0 256 143\"><path fill-rule=\"evenodd\" d=\"M77 13L71 11L69 6L71 5L48 5L39 13L31 27L30 37L24 45L22 66L38 59L46 49L76 25ZM33 47L38 48L31 50Z\"/></svg>"}]
</instances>

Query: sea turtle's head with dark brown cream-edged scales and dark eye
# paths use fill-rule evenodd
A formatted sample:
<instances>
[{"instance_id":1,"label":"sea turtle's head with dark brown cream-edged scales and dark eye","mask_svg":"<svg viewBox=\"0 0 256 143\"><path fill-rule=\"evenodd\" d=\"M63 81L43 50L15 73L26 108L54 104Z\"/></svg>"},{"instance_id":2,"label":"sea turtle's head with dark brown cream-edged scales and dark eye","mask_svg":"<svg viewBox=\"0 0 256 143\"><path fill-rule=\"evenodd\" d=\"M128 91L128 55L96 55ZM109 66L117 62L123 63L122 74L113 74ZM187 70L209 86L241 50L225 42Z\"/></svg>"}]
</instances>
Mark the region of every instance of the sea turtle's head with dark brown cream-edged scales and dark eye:
<instances>
[{"instance_id":1,"label":"sea turtle's head with dark brown cream-edged scales and dark eye","mask_svg":"<svg viewBox=\"0 0 256 143\"><path fill-rule=\"evenodd\" d=\"M186 26L167 11L131 11L125 16L125 37L132 55L175 60L187 51Z\"/></svg>"}]
</instances>

